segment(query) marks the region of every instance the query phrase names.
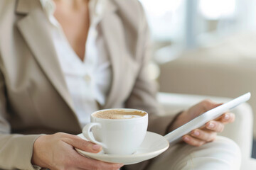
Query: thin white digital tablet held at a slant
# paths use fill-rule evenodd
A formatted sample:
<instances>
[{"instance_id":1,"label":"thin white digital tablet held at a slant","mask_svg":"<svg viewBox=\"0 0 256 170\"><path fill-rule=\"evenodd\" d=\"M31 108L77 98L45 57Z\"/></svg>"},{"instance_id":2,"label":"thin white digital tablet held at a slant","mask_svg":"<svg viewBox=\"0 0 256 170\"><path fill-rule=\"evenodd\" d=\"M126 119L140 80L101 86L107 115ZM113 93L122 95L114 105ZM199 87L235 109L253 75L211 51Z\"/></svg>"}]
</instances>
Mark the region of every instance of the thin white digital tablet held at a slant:
<instances>
[{"instance_id":1,"label":"thin white digital tablet held at a slant","mask_svg":"<svg viewBox=\"0 0 256 170\"><path fill-rule=\"evenodd\" d=\"M166 138L166 140L170 142L170 145L174 145L176 142L179 142L181 140L181 137L183 135L186 135L192 130L195 130L197 128L201 128L208 121L214 120L215 118L218 118L223 113L240 105L240 103L248 101L250 99L250 96L251 96L250 93L244 94L238 98L233 99L232 101L224 103L223 105L220 105L216 108L213 108L210 111L207 111L206 113L198 115L198 117L182 125L176 130L169 132L169 134L165 135L164 137Z\"/></svg>"}]
</instances>

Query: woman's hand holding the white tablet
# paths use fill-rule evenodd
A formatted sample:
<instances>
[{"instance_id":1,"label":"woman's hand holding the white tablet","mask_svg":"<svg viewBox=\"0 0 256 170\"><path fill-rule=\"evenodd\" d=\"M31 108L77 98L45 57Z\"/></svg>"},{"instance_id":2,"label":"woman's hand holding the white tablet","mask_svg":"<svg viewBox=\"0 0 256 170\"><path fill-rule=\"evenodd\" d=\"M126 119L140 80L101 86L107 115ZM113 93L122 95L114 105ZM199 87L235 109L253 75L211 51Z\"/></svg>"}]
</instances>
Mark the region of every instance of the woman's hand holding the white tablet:
<instances>
[{"instance_id":1,"label":"woman's hand holding the white tablet","mask_svg":"<svg viewBox=\"0 0 256 170\"><path fill-rule=\"evenodd\" d=\"M187 111L181 113L181 115L178 116L174 125L171 127L171 130L180 127L181 125L187 123L193 118L196 118L198 115L201 115L202 113L205 113L212 108L220 106L221 104L222 103L214 103L210 100L201 101L195 106L189 108ZM206 125L204 125L202 128L193 130L188 135L184 135L182 139L189 145L199 147L201 145L204 145L206 142L211 142L215 140L217 133L224 130L225 124L233 123L234 120L234 113L224 113L223 115L220 115L219 118L206 123Z\"/></svg>"}]
</instances>

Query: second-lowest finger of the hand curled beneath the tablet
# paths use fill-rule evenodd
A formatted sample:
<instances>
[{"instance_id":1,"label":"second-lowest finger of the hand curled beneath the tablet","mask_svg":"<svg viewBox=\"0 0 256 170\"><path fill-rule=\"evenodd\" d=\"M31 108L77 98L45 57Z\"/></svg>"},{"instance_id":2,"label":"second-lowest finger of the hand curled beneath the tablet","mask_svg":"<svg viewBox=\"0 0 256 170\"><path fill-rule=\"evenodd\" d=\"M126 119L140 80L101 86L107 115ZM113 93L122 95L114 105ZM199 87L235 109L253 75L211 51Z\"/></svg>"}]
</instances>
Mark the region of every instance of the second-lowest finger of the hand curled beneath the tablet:
<instances>
[{"instance_id":1,"label":"second-lowest finger of the hand curled beneath the tablet","mask_svg":"<svg viewBox=\"0 0 256 170\"><path fill-rule=\"evenodd\" d=\"M191 132L191 136L195 137L198 140L203 140L205 142L211 142L215 140L217 133L212 130L200 130L196 129Z\"/></svg>"}]
</instances>

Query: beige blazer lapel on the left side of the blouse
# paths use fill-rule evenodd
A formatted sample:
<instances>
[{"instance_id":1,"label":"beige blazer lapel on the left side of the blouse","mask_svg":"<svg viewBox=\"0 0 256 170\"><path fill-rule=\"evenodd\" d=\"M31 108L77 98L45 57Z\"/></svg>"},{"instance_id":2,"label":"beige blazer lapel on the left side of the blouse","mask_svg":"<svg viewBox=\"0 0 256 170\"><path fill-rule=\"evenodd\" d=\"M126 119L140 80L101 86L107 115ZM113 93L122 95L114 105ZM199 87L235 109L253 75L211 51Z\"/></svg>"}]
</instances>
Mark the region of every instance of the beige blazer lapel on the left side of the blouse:
<instances>
[{"instance_id":1,"label":"beige blazer lapel on the left side of the blouse","mask_svg":"<svg viewBox=\"0 0 256 170\"><path fill-rule=\"evenodd\" d=\"M17 10L20 10L24 14L26 6L22 6L23 8L21 8L19 4L22 4L22 2L19 1ZM33 52L33 56L41 66L41 69L43 69L43 72L46 73L46 76L60 96L63 97L64 101L74 112L73 101L68 93L68 87L65 84L53 42L50 40L50 33L53 28L48 23L46 16L44 16L41 5L36 4L33 6L28 15L18 21L17 26Z\"/></svg>"}]
</instances>

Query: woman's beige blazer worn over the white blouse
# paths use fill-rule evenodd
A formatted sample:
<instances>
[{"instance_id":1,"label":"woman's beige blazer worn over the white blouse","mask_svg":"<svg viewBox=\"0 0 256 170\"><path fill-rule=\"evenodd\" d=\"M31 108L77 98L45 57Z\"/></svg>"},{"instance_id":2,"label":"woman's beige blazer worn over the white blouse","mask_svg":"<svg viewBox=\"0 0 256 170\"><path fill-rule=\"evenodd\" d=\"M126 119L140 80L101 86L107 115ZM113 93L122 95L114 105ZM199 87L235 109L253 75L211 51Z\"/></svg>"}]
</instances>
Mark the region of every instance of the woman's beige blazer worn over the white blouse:
<instances>
[{"instance_id":1,"label":"woman's beige blazer worn over the white blouse","mask_svg":"<svg viewBox=\"0 0 256 170\"><path fill-rule=\"evenodd\" d=\"M112 64L112 85L101 108L139 108L149 130L164 135L171 118L159 117L149 81L149 30L137 0L109 3L100 22ZM0 169L33 169L39 134L81 132L38 0L0 1Z\"/></svg>"}]
</instances>

